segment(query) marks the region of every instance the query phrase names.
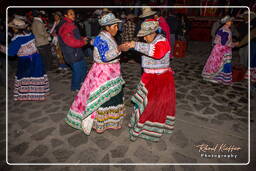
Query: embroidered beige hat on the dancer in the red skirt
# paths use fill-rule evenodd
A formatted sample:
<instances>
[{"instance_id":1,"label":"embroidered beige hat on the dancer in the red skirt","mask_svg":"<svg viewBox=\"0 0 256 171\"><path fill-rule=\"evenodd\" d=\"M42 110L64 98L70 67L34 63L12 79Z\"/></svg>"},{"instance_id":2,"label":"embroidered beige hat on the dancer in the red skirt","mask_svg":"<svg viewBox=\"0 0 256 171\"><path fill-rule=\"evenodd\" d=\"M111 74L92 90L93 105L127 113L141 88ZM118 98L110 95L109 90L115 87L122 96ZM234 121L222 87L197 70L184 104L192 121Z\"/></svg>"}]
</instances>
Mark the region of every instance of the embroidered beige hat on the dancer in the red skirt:
<instances>
[{"instance_id":1,"label":"embroidered beige hat on the dancer in the red skirt","mask_svg":"<svg viewBox=\"0 0 256 171\"><path fill-rule=\"evenodd\" d=\"M144 37L151 33L154 33L159 28L159 22L154 19L148 19L141 24L141 29L137 34L137 37Z\"/></svg>"}]
</instances>

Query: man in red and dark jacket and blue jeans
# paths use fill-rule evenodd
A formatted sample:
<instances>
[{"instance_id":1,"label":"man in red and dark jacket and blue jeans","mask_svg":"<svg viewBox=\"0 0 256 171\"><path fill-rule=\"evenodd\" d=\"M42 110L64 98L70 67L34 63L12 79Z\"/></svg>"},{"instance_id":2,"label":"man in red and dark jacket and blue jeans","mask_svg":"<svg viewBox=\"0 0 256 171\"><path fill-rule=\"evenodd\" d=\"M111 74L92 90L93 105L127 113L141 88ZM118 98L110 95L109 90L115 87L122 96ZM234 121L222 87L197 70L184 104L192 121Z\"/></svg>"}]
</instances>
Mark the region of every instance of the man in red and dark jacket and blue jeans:
<instances>
[{"instance_id":1,"label":"man in red and dark jacket and blue jeans","mask_svg":"<svg viewBox=\"0 0 256 171\"><path fill-rule=\"evenodd\" d=\"M87 72L87 63L81 47L88 43L87 38L82 38L78 27L74 24L75 12L72 9L65 11L59 28L59 42L65 61L72 69L71 90L78 91L83 83Z\"/></svg>"}]
</instances>

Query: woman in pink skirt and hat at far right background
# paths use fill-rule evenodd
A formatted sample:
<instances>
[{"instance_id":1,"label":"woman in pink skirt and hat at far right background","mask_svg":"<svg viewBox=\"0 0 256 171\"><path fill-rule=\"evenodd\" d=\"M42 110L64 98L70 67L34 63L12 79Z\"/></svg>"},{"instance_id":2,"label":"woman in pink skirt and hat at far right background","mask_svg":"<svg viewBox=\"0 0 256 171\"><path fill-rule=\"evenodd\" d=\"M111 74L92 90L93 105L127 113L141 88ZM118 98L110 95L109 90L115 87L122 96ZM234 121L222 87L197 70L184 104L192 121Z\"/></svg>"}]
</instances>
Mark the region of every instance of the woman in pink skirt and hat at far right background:
<instances>
[{"instance_id":1,"label":"woman in pink skirt and hat at far right background","mask_svg":"<svg viewBox=\"0 0 256 171\"><path fill-rule=\"evenodd\" d=\"M204 80L224 85L232 83L232 48L238 46L232 42L232 20L230 16L221 19L223 26L216 33L215 45L202 72Z\"/></svg>"}]
</instances>

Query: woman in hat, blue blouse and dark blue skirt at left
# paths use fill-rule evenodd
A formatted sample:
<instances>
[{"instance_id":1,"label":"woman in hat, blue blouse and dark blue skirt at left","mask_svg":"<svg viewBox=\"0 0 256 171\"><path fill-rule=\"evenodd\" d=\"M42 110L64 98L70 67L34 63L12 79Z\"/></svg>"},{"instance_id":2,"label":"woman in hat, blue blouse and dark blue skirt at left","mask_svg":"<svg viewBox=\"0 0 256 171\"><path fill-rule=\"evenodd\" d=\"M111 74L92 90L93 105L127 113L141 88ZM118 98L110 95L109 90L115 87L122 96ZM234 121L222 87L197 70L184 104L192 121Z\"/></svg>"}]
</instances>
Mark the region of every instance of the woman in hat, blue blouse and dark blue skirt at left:
<instances>
[{"instance_id":1,"label":"woman in hat, blue blouse and dark blue skirt at left","mask_svg":"<svg viewBox=\"0 0 256 171\"><path fill-rule=\"evenodd\" d=\"M26 32L26 23L14 18L9 23L15 33L8 55L19 57L15 76L14 100L45 100L49 93L48 77L35 46L35 36Z\"/></svg>"}]
</instances>

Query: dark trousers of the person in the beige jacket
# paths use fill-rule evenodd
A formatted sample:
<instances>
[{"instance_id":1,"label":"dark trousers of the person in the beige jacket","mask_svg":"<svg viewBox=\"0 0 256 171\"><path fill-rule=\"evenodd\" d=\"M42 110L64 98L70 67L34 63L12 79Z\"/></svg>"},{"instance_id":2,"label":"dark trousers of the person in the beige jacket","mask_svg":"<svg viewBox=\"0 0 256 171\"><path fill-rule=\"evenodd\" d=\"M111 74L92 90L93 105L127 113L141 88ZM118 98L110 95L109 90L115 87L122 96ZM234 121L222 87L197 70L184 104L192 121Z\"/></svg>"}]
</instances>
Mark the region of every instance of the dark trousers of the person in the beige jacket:
<instances>
[{"instance_id":1,"label":"dark trousers of the person in the beige jacket","mask_svg":"<svg viewBox=\"0 0 256 171\"><path fill-rule=\"evenodd\" d=\"M43 45L37 47L39 54L42 56L45 72L49 71L52 65L53 55L51 51L51 45Z\"/></svg>"}]
</instances>

